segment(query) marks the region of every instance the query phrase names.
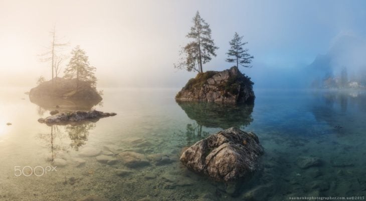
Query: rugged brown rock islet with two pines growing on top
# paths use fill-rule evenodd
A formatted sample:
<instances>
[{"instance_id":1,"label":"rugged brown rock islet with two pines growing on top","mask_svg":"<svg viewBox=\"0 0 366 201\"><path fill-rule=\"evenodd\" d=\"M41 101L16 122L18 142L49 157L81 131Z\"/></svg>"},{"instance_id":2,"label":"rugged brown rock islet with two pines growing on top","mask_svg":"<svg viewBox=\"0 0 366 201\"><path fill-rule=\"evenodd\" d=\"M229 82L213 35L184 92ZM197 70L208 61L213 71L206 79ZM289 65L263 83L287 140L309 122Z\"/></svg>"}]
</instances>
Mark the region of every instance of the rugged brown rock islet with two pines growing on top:
<instances>
[{"instance_id":1,"label":"rugged brown rock islet with two pines growing on top","mask_svg":"<svg viewBox=\"0 0 366 201\"><path fill-rule=\"evenodd\" d=\"M237 67L200 73L188 81L175 99L218 103L254 103L253 82Z\"/></svg>"}]
</instances>

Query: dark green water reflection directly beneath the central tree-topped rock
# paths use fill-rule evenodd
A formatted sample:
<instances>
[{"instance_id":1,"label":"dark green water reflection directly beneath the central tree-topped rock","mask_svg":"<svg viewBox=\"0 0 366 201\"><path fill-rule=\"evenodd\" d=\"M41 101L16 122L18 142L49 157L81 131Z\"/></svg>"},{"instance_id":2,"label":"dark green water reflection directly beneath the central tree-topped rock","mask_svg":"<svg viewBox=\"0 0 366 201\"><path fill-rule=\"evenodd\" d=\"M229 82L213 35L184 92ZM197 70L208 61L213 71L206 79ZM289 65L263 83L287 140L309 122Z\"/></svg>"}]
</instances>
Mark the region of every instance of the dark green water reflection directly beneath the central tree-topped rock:
<instances>
[{"instance_id":1,"label":"dark green water reflection directly beneath the central tree-topped rock","mask_svg":"<svg viewBox=\"0 0 366 201\"><path fill-rule=\"evenodd\" d=\"M177 103L190 119L196 121L196 123L187 124L186 135L188 144L193 144L210 135L211 132L205 131L205 127L222 129L230 127L241 128L253 121L251 114L254 105L223 105L205 102Z\"/></svg>"}]
</instances>

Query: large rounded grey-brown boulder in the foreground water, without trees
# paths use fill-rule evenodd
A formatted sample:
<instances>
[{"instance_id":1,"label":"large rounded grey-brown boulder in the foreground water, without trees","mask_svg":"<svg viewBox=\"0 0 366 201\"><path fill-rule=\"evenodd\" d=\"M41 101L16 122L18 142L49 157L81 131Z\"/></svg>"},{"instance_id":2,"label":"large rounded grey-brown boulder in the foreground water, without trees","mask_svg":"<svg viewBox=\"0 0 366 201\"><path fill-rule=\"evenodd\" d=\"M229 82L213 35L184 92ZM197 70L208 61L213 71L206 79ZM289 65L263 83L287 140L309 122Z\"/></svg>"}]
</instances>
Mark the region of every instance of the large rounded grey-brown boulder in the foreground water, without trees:
<instances>
[{"instance_id":1,"label":"large rounded grey-brown boulder in the foreground water, without trees","mask_svg":"<svg viewBox=\"0 0 366 201\"><path fill-rule=\"evenodd\" d=\"M249 176L263 154L254 133L229 128L198 141L180 156L189 169L219 181Z\"/></svg>"}]
</instances>

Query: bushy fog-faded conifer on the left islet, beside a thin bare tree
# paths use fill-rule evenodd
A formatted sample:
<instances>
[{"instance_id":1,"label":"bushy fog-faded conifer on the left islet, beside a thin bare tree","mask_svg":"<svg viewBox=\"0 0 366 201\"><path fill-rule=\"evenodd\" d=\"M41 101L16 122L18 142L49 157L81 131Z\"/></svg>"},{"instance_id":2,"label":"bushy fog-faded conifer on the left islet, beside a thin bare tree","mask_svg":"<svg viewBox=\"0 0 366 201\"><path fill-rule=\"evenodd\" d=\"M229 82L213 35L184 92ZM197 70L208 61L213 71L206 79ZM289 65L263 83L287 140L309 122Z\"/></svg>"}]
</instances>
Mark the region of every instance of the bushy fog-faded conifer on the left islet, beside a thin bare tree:
<instances>
[{"instance_id":1,"label":"bushy fog-faded conifer on the left islet, beside a thin bare tree","mask_svg":"<svg viewBox=\"0 0 366 201\"><path fill-rule=\"evenodd\" d=\"M94 72L96 68L90 66L85 51L77 46L71 51L71 55L72 58L64 71L64 78L76 78L76 89L79 88L79 81L85 81L89 83L90 86L95 87L97 79Z\"/></svg>"}]
</instances>

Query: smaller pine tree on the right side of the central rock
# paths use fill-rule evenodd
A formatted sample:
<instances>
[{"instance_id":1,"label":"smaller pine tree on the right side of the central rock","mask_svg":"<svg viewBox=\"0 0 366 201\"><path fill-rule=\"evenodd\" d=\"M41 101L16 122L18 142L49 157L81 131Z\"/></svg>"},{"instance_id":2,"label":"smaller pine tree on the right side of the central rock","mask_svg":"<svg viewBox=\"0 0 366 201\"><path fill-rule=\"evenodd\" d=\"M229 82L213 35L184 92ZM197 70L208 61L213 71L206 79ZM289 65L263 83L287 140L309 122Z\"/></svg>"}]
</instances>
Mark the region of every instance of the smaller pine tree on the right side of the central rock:
<instances>
[{"instance_id":1,"label":"smaller pine tree on the right side of the central rock","mask_svg":"<svg viewBox=\"0 0 366 201\"><path fill-rule=\"evenodd\" d=\"M252 68L250 65L252 63L253 56L248 53L248 49L244 49L243 46L248 42L242 42L243 37L239 36L238 33L235 32L233 40L229 42L231 48L228 53L229 58L226 59L227 62L236 62L236 66L239 67L239 64L246 68ZM234 57L234 58L231 58Z\"/></svg>"}]
</instances>

